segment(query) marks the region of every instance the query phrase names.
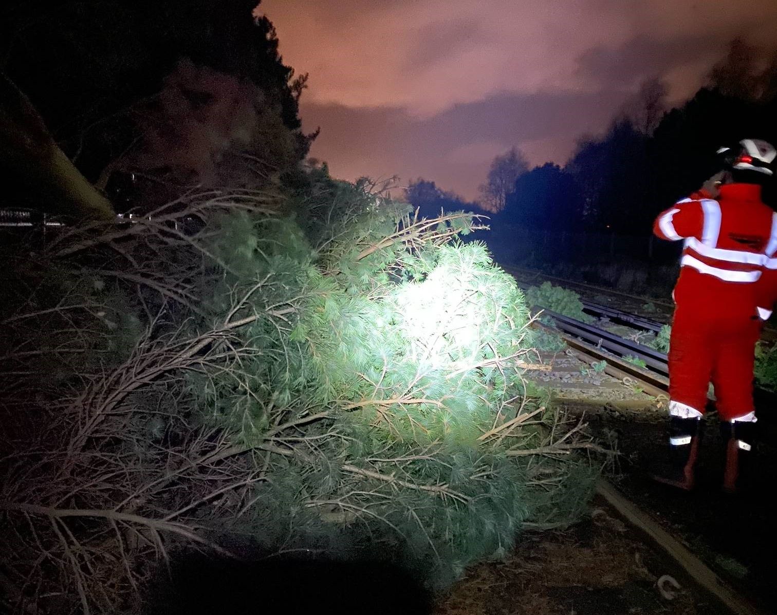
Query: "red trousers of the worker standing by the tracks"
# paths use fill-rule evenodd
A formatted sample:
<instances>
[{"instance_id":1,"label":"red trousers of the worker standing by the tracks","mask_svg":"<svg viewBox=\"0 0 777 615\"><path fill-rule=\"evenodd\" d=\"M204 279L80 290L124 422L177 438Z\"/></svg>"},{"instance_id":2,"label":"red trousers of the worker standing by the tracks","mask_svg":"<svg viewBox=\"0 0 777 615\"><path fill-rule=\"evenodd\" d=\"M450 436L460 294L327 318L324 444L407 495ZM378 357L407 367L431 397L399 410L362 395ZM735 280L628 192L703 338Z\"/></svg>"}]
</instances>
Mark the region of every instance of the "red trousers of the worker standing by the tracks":
<instances>
[{"instance_id":1,"label":"red trousers of the worker standing by the tracks","mask_svg":"<svg viewBox=\"0 0 777 615\"><path fill-rule=\"evenodd\" d=\"M724 421L753 412L756 318L723 314L713 305L674 312L669 350L669 396L704 413L710 380Z\"/></svg>"}]
</instances>

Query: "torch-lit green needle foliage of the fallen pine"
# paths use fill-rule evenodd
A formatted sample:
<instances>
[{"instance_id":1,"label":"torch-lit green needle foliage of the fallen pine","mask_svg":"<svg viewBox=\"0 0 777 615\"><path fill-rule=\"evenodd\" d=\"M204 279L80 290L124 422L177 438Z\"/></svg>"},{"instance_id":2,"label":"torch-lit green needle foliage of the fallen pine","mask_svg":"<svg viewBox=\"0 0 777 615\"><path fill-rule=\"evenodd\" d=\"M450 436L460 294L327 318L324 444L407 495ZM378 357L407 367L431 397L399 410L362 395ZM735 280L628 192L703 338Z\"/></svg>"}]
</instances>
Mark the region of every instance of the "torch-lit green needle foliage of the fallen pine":
<instances>
[{"instance_id":1,"label":"torch-lit green needle foliage of the fallen pine","mask_svg":"<svg viewBox=\"0 0 777 615\"><path fill-rule=\"evenodd\" d=\"M333 423L314 423L304 432L321 439L316 446L326 461L291 464L286 471L294 478L284 484L298 485L308 499L344 502L327 518L347 519L349 506L365 506L367 499L371 514L358 514L361 522L375 523L375 531L398 528L403 557L427 562L430 582L441 586L469 562L503 554L523 521L540 514L545 523L574 518L577 496L565 499L553 489L549 499L544 489L528 485L527 473L541 467L561 477L580 471L587 476L574 481L581 493L590 489L593 474L582 462L562 466L552 459L535 460L530 470L507 455L517 434L496 448L479 441L495 418L515 416L512 401L526 398L516 360L531 362L538 333L528 327L530 314L514 278L493 264L482 243L455 239L472 228L472 217L415 221L405 203L372 196L364 185L323 186L325 195L299 222L270 219L254 227L257 238L273 241L257 240L261 249L239 269L253 269L253 279L269 273L274 281L263 287L253 310L290 304L294 318L280 330L264 321L246 329L247 346L275 357L245 365L256 375L256 403L236 404L234 387L217 379L214 387L202 387L207 393L199 405L208 408L203 419L239 429L252 443L271 424L263 408L328 408ZM234 252L246 245L242 237L251 228L241 224L242 231L230 231ZM526 398L521 412L540 401ZM327 436L332 429L338 436ZM548 435L542 426L521 431L521 446L542 446ZM404 480L448 485L458 495L446 500L417 489L397 491L364 477L354 483L354 474L343 472L349 465L374 471L368 460L376 457L419 457L402 464ZM487 481L472 478L483 473ZM355 485L391 498L347 495ZM261 489L269 494L277 482ZM257 509L256 515L260 525L279 518L276 508ZM294 540L331 531L311 523L294 520L306 532ZM398 540L389 533L386 540Z\"/></svg>"}]
</instances>

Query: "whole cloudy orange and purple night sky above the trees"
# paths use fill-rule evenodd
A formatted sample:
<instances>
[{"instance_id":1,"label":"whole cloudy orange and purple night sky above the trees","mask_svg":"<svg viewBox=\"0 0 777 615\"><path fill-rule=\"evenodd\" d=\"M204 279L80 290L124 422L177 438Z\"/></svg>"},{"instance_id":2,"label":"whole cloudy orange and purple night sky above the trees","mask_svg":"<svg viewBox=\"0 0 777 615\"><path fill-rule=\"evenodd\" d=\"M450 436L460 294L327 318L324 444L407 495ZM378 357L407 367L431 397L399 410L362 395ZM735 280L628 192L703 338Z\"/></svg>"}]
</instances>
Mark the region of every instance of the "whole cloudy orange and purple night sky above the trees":
<instances>
[{"instance_id":1,"label":"whole cloudy orange and purple night sky above the trees","mask_svg":"<svg viewBox=\"0 0 777 615\"><path fill-rule=\"evenodd\" d=\"M775 0L263 0L333 175L423 176L474 198L494 155L563 163L646 78L691 96L742 36L777 47Z\"/></svg>"}]
</instances>

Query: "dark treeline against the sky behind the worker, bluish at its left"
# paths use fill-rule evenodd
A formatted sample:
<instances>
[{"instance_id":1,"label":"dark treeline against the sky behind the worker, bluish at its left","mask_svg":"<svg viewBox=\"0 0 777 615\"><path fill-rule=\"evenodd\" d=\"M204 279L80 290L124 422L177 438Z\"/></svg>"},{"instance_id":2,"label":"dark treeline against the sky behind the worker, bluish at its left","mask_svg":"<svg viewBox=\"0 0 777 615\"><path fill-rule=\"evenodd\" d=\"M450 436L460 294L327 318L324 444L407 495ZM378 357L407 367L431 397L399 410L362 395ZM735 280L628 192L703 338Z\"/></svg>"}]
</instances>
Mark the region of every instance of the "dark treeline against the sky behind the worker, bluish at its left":
<instances>
[{"instance_id":1,"label":"dark treeline against the sky behind the worker, bluish at its left","mask_svg":"<svg viewBox=\"0 0 777 615\"><path fill-rule=\"evenodd\" d=\"M720 146L742 138L777 141L777 57L766 65L763 59L761 50L734 40L705 87L674 109L667 109L663 85L647 82L606 134L580 140L566 165L549 162L529 170L519 157L503 207L491 207L500 191L493 175L508 158L497 157L481 189L484 207L497 210L488 214L495 233L520 226L649 235L660 210L720 170ZM471 206L440 189L435 199L434 189L433 182L411 182L409 201L423 210Z\"/></svg>"}]
</instances>

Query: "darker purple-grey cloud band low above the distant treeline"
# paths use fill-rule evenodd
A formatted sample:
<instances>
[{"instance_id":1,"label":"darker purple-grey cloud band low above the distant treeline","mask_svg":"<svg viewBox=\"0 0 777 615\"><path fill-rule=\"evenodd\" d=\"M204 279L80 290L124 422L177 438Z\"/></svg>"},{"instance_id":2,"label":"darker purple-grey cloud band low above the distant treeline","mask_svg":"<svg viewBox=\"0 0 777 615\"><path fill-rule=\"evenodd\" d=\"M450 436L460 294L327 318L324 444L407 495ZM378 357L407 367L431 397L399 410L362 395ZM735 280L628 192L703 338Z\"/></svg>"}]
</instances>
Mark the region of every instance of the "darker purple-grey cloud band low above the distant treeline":
<instances>
[{"instance_id":1,"label":"darker purple-grey cloud band low above the distant treeline","mask_svg":"<svg viewBox=\"0 0 777 615\"><path fill-rule=\"evenodd\" d=\"M472 199L494 155L517 145L533 164L563 162L574 147L570 134L603 130L611 116L608 105L621 106L629 95L618 89L500 93L431 117L414 116L400 107L308 101L301 113L306 130L324 127L311 155L329 162L334 175L355 179L397 174L404 181L423 176Z\"/></svg>"}]
</instances>

